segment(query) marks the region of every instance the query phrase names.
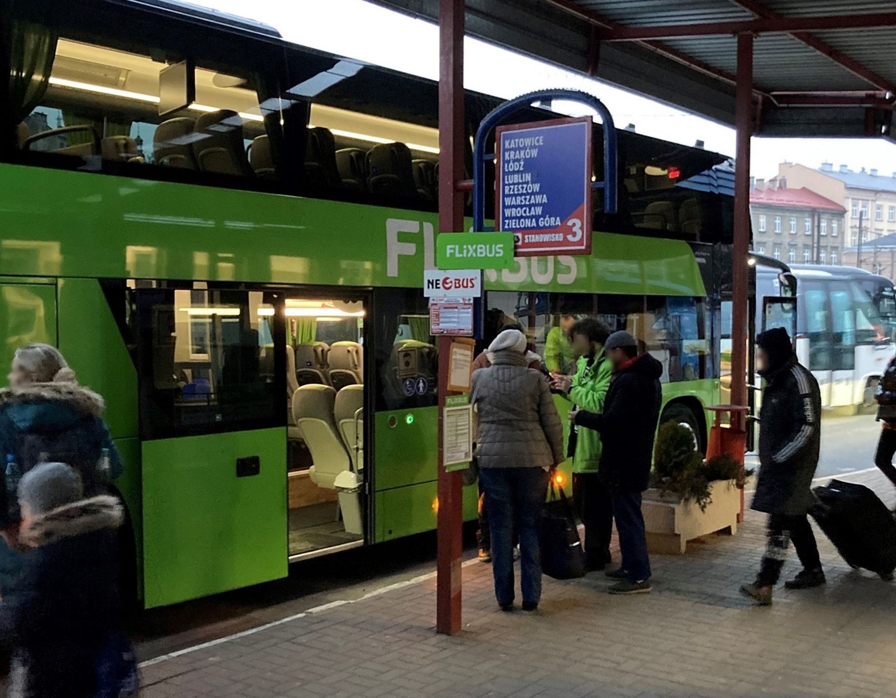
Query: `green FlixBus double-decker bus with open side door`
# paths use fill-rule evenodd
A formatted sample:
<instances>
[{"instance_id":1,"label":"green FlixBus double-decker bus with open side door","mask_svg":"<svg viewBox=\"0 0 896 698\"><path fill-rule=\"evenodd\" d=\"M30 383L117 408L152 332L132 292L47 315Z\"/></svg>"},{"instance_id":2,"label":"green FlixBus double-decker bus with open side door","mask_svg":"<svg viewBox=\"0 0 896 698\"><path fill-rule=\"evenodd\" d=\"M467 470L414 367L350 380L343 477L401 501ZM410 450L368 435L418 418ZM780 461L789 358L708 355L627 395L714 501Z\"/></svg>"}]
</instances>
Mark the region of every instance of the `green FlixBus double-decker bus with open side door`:
<instances>
[{"instance_id":1,"label":"green FlixBus double-decker bus with open side door","mask_svg":"<svg viewBox=\"0 0 896 698\"><path fill-rule=\"evenodd\" d=\"M145 607L433 529L435 83L168 0L7 7L0 341L57 345L105 396ZM468 94L470 133L498 102ZM593 253L487 271L486 331L627 329L705 445L724 159L620 132Z\"/></svg>"}]
</instances>

